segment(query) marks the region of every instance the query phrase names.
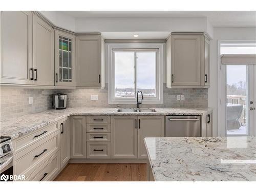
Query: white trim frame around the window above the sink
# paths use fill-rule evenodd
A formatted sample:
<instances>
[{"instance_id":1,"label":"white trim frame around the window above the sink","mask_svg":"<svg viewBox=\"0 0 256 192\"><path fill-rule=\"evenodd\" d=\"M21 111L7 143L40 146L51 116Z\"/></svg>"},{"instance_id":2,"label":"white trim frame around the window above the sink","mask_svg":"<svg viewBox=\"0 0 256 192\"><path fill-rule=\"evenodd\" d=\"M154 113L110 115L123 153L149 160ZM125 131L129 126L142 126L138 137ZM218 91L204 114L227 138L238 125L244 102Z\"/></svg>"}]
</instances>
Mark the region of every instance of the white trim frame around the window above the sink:
<instances>
[{"instance_id":1,"label":"white trim frame around the window above the sink","mask_svg":"<svg viewBox=\"0 0 256 192\"><path fill-rule=\"evenodd\" d=\"M165 62L165 43L108 43L106 44L106 61L108 62L108 70L109 70L109 93L108 93L108 101L110 104L131 104L136 103L135 99L114 99L114 89L112 87L112 82L114 76L112 74L114 66L112 65L113 60L113 49L158 49L158 57L159 57L159 67L156 72L156 91L158 92L157 99L149 99L144 98L142 103L149 104L161 104L163 103L163 63Z\"/></svg>"}]
</instances>

